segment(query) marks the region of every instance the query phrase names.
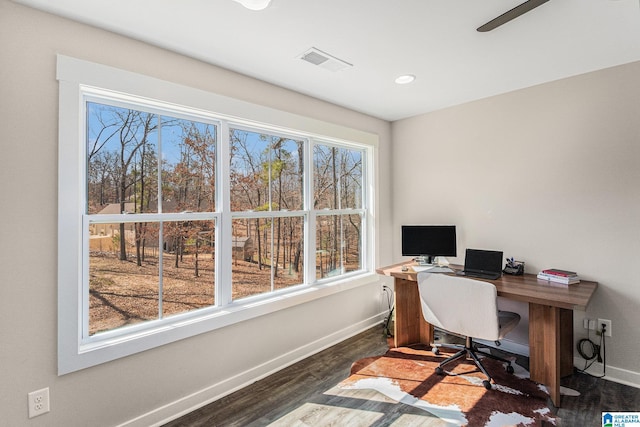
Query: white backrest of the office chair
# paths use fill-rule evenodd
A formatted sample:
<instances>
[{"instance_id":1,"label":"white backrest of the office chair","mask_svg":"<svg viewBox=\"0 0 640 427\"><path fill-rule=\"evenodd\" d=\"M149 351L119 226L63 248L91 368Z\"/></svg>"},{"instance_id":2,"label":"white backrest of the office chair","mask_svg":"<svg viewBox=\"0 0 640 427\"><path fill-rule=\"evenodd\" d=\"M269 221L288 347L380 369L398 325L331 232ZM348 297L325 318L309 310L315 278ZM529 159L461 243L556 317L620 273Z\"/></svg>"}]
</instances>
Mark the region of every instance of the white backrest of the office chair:
<instances>
[{"instance_id":1,"label":"white backrest of the office chair","mask_svg":"<svg viewBox=\"0 0 640 427\"><path fill-rule=\"evenodd\" d=\"M427 322L468 337L499 338L498 292L492 283L424 272L418 274L418 289Z\"/></svg>"}]
</instances>

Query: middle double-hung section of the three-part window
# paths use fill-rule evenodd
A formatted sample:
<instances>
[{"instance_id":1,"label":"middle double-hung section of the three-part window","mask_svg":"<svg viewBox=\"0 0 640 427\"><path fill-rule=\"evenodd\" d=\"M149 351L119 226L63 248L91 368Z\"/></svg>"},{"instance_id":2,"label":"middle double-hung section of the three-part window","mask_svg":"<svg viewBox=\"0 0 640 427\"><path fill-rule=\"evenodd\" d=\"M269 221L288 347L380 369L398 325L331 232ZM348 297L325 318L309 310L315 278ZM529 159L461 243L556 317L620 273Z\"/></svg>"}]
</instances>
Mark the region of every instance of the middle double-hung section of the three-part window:
<instances>
[{"instance_id":1,"label":"middle double-hung section of the three-part window","mask_svg":"<svg viewBox=\"0 0 640 427\"><path fill-rule=\"evenodd\" d=\"M233 299L305 283L306 141L231 128Z\"/></svg>"}]
</instances>

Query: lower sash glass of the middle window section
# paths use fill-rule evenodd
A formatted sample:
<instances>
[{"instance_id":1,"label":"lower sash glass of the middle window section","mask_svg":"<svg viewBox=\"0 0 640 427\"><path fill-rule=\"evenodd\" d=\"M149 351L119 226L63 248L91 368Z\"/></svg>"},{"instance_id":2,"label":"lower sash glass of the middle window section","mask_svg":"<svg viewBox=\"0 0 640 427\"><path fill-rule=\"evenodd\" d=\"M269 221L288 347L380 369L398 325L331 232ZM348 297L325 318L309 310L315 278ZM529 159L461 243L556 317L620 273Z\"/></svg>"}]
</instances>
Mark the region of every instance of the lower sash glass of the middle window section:
<instances>
[{"instance_id":1,"label":"lower sash glass of the middle window section","mask_svg":"<svg viewBox=\"0 0 640 427\"><path fill-rule=\"evenodd\" d=\"M233 299L303 283L303 217L233 220Z\"/></svg>"}]
</instances>

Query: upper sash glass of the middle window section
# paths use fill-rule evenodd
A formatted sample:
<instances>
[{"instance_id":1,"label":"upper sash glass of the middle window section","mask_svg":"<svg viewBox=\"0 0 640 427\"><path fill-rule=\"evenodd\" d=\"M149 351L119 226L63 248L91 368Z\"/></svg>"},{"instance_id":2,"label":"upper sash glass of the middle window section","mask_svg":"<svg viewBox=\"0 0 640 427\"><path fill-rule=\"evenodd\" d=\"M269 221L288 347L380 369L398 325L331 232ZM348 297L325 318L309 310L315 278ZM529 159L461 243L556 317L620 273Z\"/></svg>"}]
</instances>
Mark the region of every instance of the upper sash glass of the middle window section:
<instances>
[{"instance_id":1,"label":"upper sash glass of the middle window section","mask_svg":"<svg viewBox=\"0 0 640 427\"><path fill-rule=\"evenodd\" d=\"M303 208L303 142L231 129L231 208Z\"/></svg>"}]
</instances>

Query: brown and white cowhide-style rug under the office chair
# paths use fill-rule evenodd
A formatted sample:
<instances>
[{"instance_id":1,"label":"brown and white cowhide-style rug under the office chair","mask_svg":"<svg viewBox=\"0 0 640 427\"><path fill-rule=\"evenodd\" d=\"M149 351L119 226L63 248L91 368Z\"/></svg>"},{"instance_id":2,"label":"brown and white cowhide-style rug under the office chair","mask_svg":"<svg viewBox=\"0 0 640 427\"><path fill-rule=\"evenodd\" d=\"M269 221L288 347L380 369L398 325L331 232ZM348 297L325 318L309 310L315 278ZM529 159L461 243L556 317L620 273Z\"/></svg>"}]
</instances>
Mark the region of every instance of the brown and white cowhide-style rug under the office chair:
<instances>
[{"instance_id":1,"label":"brown and white cowhide-style rug under the office chair","mask_svg":"<svg viewBox=\"0 0 640 427\"><path fill-rule=\"evenodd\" d=\"M483 358L494 376L491 390L472 361L448 365L452 375L437 375L435 367L447 356L435 356L430 347L395 348L383 356L358 360L339 387L373 389L387 397L421 408L453 425L552 426L559 420L547 406L546 388L528 379L528 372L513 365L508 374L499 361Z\"/></svg>"}]
</instances>

